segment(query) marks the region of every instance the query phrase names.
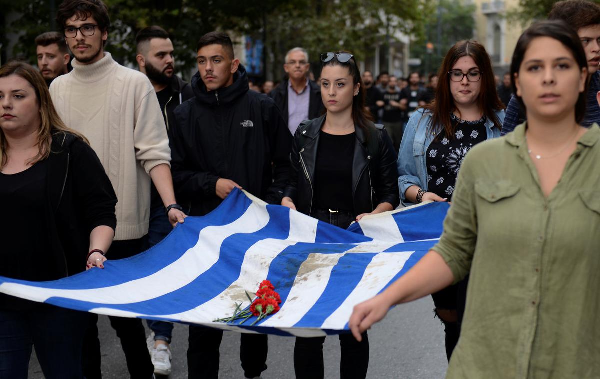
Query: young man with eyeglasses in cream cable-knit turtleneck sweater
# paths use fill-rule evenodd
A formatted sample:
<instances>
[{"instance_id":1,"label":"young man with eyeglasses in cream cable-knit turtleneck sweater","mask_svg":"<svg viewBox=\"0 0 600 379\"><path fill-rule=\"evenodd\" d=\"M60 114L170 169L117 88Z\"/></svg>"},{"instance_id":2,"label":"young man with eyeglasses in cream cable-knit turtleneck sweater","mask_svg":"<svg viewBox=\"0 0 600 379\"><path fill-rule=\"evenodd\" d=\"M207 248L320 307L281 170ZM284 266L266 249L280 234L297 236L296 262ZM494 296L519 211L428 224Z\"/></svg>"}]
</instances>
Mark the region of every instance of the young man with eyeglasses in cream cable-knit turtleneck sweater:
<instances>
[{"instance_id":1,"label":"young man with eyeglasses in cream cable-knit turtleneck sweater","mask_svg":"<svg viewBox=\"0 0 600 379\"><path fill-rule=\"evenodd\" d=\"M104 52L110 18L100 0L65 0L57 23L75 57L73 71L50 86L56 110L69 127L88 137L119 199L117 227L107 257L122 259L143 251L148 233L150 181L154 182L169 221L184 221L176 204L170 172L167 130L154 87L144 74L125 68ZM84 341L83 371L101 378L97 316ZM110 317L121 339L131 378L152 378L142 320Z\"/></svg>"}]
</instances>

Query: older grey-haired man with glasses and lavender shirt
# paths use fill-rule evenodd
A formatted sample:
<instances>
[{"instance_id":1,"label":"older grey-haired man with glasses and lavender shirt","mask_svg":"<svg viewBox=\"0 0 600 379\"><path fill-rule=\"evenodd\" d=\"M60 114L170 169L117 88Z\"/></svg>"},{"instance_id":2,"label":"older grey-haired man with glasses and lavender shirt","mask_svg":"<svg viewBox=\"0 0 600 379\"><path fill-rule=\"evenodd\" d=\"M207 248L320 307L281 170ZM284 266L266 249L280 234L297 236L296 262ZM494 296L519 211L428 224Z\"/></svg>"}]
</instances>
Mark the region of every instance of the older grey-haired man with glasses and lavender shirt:
<instances>
[{"instance_id":1,"label":"older grey-haired man with glasses and lavender shirt","mask_svg":"<svg viewBox=\"0 0 600 379\"><path fill-rule=\"evenodd\" d=\"M308 79L310 62L306 50L295 47L287 52L283 70L289 80L281 82L269 96L281 110L293 136L302 121L321 116L325 108L319 85Z\"/></svg>"}]
</instances>

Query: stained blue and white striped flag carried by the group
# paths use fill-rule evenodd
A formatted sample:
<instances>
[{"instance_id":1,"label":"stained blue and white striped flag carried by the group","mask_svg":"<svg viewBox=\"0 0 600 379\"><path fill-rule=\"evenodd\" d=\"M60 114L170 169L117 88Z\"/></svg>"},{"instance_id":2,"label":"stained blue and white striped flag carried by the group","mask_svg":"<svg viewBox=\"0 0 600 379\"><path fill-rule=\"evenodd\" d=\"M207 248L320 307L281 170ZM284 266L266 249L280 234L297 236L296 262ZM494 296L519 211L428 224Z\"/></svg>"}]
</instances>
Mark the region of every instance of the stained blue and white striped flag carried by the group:
<instances>
[{"instance_id":1,"label":"stained blue and white striped flag carried by the group","mask_svg":"<svg viewBox=\"0 0 600 379\"><path fill-rule=\"evenodd\" d=\"M64 308L316 337L347 332L353 307L407 272L442 234L446 203L369 216L348 230L235 189L142 254L52 282L0 277L0 292ZM110 254L109 256L110 257ZM254 326L229 317L268 279L281 310Z\"/></svg>"}]
</instances>

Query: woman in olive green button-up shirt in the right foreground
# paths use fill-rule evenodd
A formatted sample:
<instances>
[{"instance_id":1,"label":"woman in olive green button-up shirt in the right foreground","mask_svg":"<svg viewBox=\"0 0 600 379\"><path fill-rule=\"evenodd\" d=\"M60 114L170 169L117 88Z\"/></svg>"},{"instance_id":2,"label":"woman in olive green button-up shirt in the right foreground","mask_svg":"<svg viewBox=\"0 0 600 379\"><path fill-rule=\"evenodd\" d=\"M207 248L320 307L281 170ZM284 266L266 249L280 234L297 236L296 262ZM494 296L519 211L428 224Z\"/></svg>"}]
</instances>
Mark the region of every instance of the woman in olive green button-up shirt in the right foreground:
<instances>
[{"instance_id":1,"label":"woman in olive green button-up shirt in the right foreground","mask_svg":"<svg viewBox=\"0 0 600 379\"><path fill-rule=\"evenodd\" d=\"M448 378L597 378L600 128L581 127L587 59L566 23L521 35L512 88L527 122L467 155L440 242L355 307L356 338L390 306L470 272Z\"/></svg>"}]
</instances>

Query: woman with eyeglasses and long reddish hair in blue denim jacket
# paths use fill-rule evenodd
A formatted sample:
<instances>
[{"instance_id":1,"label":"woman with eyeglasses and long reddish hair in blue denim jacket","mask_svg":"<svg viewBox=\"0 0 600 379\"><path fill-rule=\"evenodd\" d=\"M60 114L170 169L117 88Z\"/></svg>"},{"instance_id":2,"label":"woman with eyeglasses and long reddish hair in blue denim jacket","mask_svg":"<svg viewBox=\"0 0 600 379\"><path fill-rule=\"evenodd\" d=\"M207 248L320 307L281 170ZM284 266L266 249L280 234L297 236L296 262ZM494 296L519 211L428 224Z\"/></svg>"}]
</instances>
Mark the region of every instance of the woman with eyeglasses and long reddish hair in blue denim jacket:
<instances>
[{"instance_id":1,"label":"woman with eyeglasses and long reddish hair in blue denim jacket","mask_svg":"<svg viewBox=\"0 0 600 379\"><path fill-rule=\"evenodd\" d=\"M461 41L440 68L436 98L411 116L398 157L400 197L405 204L451 201L469 150L500 137L504 111L490 58L475 41ZM466 282L433 294L445 326L448 360L458 342Z\"/></svg>"}]
</instances>

